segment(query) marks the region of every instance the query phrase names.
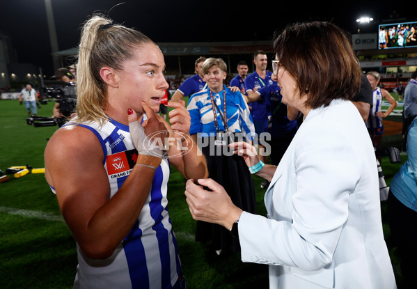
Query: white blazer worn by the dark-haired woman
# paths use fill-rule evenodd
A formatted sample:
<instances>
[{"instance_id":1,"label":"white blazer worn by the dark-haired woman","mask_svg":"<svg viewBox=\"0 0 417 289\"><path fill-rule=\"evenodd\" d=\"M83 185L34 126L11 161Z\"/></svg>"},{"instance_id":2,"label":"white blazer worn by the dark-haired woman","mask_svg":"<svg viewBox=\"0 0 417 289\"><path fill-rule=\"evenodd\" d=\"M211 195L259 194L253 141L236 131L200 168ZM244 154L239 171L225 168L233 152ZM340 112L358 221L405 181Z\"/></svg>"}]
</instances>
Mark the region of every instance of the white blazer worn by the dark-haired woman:
<instances>
[{"instance_id":1,"label":"white blazer worn by the dark-haired woman","mask_svg":"<svg viewBox=\"0 0 417 289\"><path fill-rule=\"evenodd\" d=\"M352 102L310 111L265 205L267 218L242 214L239 240L243 262L269 265L270 288L396 288L375 151Z\"/></svg>"}]
</instances>

